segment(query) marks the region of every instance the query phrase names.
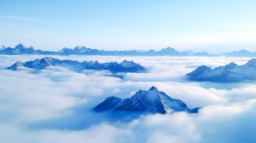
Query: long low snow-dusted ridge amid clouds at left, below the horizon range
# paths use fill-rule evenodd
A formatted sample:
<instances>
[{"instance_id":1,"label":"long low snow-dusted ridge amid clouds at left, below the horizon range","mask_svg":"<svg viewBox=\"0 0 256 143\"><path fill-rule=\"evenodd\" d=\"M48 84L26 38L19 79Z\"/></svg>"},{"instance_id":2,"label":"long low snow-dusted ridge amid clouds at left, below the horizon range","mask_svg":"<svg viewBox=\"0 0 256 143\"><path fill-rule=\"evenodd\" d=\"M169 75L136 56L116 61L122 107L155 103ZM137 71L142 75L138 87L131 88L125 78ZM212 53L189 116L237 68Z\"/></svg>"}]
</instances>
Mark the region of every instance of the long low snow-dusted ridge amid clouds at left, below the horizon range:
<instances>
[{"instance_id":1,"label":"long low snow-dusted ridge amid clouds at left, below the horizon range","mask_svg":"<svg viewBox=\"0 0 256 143\"><path fill-rule=\"evenodd\" d=\"M117 62L110 62L110 63L98 63L95 62L87 62L84 61L82 63L79 63L78 61L72 61L72 60L58 60L57 58L42 58L42 59L36 59L35 61L27 61L26 63L21 63L20 61L17 61L13 66L7 67L8 70L23 70L26 68L31 69L38 69L42 70L45 69L48 66L59 66L59 67L66 67L70 70L75 71L82 71L85 69L88 70L109 70L112 71L112 73L120 73L120 72L145 72L146 69L141 66L140 64L134 63L133 61L122 61L122 63Z\"/></svg>"}]
</instances>

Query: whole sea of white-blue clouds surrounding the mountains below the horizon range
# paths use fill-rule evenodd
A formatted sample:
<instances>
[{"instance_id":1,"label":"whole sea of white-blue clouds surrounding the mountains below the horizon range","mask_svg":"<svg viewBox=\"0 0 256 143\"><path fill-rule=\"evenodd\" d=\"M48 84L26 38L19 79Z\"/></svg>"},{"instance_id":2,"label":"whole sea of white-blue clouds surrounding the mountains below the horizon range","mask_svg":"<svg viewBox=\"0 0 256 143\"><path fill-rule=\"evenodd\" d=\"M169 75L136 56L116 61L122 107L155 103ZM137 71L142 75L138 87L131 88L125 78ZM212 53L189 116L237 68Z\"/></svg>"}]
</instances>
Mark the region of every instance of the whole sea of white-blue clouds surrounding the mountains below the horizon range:
<instances>
[{"instance_id":1,"label":"whole sea of white-blue clouds surrounding the mountains below the horizon range","mask_svg":"<svg viewBox=\"0 0 256 143\"><path fill-rule=\"evenodd\" d=\"M146 73L61 67L10 71L16 61L54 57L60 60L132 60ZM190 82L184 76L202 64L212 68L251 58L236 57L114 57L57 55L0 55L1 142L255 142L256 82ZM106 97L128 98L139 89L156 86L198 114L149 114L127 117L94 113Z\"/></svg>"}]
</instances>

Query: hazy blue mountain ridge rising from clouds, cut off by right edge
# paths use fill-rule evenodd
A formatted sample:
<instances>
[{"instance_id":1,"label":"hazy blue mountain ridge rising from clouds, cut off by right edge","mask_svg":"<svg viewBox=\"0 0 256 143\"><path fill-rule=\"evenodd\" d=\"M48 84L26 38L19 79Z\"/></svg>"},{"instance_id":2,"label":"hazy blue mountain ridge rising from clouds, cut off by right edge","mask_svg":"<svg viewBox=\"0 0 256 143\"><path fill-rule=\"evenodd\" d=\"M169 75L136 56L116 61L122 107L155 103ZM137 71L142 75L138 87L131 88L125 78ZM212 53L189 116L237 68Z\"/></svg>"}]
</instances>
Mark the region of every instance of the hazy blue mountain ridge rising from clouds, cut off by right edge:
<instances>
[{"instance_id":1,"label":"hazy blue mountain ridge rising from clouds, cut off by right edge","mask_svg":"<svg viewBox=\"0 0 256 143\"><path fill-rule=\"evenodd\" d=\"M189 80L209 82L242 82L256 79L256 60L253 58L243 66L235 63L211 69L207 66L200 66L191 73L186 74Z\"/></svg>"}]
</instances>

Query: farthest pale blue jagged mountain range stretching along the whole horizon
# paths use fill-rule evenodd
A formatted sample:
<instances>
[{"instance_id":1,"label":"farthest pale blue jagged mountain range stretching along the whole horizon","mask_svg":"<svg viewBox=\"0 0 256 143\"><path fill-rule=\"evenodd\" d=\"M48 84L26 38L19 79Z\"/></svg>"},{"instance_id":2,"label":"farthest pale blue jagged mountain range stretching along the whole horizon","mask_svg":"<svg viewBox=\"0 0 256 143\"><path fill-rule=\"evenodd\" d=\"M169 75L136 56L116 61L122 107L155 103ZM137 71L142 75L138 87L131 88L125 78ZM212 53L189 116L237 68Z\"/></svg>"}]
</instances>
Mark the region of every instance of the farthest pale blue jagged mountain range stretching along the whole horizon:
<instances>
[{"instance_id":1,"label":"farthest pale blue jagged mountain range stretching along the whole horizon","mask_svg":"<svg viewBox=\"0 0 256 143\"><path fill-rule=\"evenodd\" d=\"M21 54L39 54L39 55L115 55L115 56L228 56L228 57L256 57L255 52L249 52L245 49L240 51L227 52L222 54L209 54L208 52L193 52L186 50L184 52L176 51L174 48L163 48L160 51L154 51L153 49L141 51L141 50L125 50L125 51L105 51L99 49L90 49L85 46L76 46L73 49L63 48L60 51L42 51L40 49L35 50L32 46L29 48L25 47L21 43L15 48L5 46L0 47L0 54L2 55L21 55Z\"/></svg>"}]
</instances>

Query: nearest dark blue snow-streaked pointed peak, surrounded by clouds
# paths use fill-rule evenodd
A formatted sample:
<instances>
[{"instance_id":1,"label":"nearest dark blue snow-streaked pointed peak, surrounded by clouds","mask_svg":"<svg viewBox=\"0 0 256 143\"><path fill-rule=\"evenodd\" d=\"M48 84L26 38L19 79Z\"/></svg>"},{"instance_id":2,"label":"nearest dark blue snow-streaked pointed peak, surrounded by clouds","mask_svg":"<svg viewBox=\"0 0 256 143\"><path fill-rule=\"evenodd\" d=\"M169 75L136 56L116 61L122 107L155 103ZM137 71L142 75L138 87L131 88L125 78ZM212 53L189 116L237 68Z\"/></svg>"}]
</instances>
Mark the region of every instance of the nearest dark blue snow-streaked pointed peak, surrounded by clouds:
<instances>
[{"instance_id":1,"label":"nearest dark blue snow-streaked pointed peak, surrounded by clouds","mask_svg":"<svg viewBox=\"0 0 256 143\"><path fill-rule=\"evenodd\" d=\"M146 113L174 113L187 111L188 113L198 113L199 108L193 110L187 108L187 105L176 99L172 99L165 92L158 91L152 86L149 91L137 91L131 98L122 100L118 97L108 97L98 104L92 110L101 111L141 111Z\"/></svg>"}]
</instances>

